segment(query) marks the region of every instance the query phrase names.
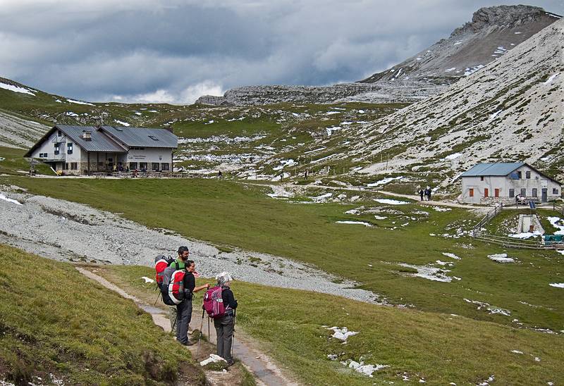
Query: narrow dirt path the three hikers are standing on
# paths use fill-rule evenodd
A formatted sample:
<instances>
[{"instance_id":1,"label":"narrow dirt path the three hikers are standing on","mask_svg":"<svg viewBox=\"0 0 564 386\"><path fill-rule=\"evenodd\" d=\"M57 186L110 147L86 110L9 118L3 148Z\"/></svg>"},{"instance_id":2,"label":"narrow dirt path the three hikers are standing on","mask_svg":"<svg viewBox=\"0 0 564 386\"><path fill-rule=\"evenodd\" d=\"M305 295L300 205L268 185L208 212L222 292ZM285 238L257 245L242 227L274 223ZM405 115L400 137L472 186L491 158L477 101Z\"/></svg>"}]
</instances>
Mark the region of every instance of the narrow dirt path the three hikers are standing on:
<instances>
[{"instance_id":1,"label":"narrow dirt path the three hikers are standing on","mask_svg":"<svg viewBox=\"0 0 564 386\"><path fill-rule=\"evenodd\" d=\"M165 332L171 331L170 321L168 319L168 314L163 309L160 309L156 306L151 306L146 304L145 302L137 299L137 297L128 294L120 287L117 287L113 283L109 282L108 280L102 278L102 276L96 275L90 270L85 268L77 267L76 268L82 275L85 275L87 278L95 280L99 282L104 287L117 292L125 299L131 299L137 304L137 306L142 309L143 311L149 313L153 318L153 322L155 325L161 327ZM207 325L207 317L203 319L203 328L202 332L204 336L207 337L209 342L216 341L216 331L213 325L213 322L209 321L209 332L208 332L208 325ZM197 328L200 329L200 325L202 324L202 311L200 308L200 304L194 304L194 311L192 311L192 320L190 322L191 330ZM192 352L192 356L197 361L202 361L208 356L208 353L200 349L200 355L196 358L197 353L197 344L188 347L190 352ZM255 375L255 382L257 385L295 385L298 386L299 384L293 382L286 377L281 371L281 369L276 366L276 363L264 352L262 352L258 347L257 343L252 340L250 337L245 335L244 332L235 325L235 340L233 344L233 356L236 359L239 359L243 366L247 368L252 375ZM230 379L231 371L226 373L221 373L218 371L205 371L206 378L211 385L229 385L233 384L232 380Z\"/></svg>"}]
</instances>

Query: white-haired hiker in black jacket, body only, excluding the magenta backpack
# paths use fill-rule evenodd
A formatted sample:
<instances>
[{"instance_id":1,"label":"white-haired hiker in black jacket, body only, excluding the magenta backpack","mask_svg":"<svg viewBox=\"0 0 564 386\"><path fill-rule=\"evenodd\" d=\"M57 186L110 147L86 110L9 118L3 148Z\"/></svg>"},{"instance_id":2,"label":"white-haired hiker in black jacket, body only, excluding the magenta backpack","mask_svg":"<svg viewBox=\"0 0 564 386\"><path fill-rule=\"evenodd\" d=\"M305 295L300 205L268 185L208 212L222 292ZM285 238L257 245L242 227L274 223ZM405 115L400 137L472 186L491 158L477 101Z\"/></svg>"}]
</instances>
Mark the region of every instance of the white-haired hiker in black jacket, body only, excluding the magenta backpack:
<instances>
[{"instance_id":1,"label":"white-haired hiker in black jacket, body only, excluding the magenta backpack","mask_svg":"<svg viewBox=\"0 0 564 386\"><path fill-rule=\"evenodd\" d=\"M221 318L214 319L214 327L217 334L217 355L227 361L228 366L233 364L231 356L231 344L233 344L233 329L235 328L235 309L237 300L229 287L233 278L231 273L222 272L216 276L217 285L221 287L221 298L225 306L226 314Z\"/></svg>"}]
</instances>

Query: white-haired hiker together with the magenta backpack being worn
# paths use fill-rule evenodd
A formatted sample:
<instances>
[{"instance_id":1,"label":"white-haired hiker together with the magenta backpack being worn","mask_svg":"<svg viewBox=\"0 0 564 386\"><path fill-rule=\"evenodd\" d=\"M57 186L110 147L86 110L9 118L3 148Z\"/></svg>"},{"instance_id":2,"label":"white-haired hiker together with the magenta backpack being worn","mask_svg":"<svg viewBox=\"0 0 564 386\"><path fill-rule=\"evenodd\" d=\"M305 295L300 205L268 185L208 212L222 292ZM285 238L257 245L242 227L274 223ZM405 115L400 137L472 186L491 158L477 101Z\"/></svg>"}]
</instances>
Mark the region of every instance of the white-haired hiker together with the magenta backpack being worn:
<instances>
[{"instance_id":1,"label":"white-haired hiker together with the magenta backpack being worn","mask_svg":"<svg viewBox=\"0 0 564 386\"><path fill-rule=\"evenodd\" d=\"M233 344L233 330L235 330L235 309L237 300L233 296L231 273L222 272L216 276L217 286L207 290L204 295L204 309L214 319L217 335L217 355L233 365L231 345Z\"/></svg>"}]
</instances>

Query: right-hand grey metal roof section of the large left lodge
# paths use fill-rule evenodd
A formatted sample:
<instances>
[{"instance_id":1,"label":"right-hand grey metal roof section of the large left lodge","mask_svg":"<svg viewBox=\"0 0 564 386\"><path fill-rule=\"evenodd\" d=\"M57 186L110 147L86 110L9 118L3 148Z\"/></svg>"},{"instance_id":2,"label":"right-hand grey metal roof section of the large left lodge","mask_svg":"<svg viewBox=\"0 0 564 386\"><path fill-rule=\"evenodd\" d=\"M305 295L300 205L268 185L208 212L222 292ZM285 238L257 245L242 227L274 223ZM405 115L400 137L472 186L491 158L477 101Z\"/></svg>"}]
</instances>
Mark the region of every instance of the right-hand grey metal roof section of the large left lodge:
<instances>
[{"instance_id":1,"label":"right-hand grey metal roof section of the large left lodge","mask_svg":"<svg viewBox=\"0 0 564 386\"><path fill-rule=\"evenodd\" d=\"M102 126L102 130L128 147L178 147L178 137L166 129Z\"/></svg>"}]
</instances>

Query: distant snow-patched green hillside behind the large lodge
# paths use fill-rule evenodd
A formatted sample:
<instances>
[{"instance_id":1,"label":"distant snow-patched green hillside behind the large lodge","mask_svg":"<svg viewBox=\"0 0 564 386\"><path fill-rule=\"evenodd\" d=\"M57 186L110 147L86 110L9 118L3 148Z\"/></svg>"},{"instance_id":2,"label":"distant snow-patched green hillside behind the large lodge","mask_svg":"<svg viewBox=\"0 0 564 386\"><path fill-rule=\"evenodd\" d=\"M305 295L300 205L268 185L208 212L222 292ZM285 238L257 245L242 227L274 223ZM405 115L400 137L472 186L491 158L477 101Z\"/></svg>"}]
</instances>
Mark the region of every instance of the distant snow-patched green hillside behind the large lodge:
<instances>
[{"instance_id":1,"label":"distant snow-patched green hillside behind the large lodge","mask_svg":"<svg viewBox=\"0 0 564 386\"><path fill-rule=\"evenodd\" d=\"M274 104L253 107L90 103L48 94L11 80L27 90L0 88L1 111L45 125L130 125L171 127L180 137L175 165L187 170L238 169L253 175L296 175L309 170L320 177L349 173L361 166L348 157L348 138L363 124L407 104ZM321 149L321 150L319 150ZM390 158L388 153L379 154ZM325 161L319 161L321 158ZM377 157L376 157L377 158ZM281 170L281 161L293 167ZM364 165L365 166L365 165ZM341 178L349 178L348 175ZM352 182L365 178L356 175Z\"/></svg>"}]
</instances>

